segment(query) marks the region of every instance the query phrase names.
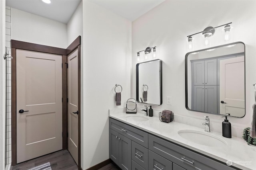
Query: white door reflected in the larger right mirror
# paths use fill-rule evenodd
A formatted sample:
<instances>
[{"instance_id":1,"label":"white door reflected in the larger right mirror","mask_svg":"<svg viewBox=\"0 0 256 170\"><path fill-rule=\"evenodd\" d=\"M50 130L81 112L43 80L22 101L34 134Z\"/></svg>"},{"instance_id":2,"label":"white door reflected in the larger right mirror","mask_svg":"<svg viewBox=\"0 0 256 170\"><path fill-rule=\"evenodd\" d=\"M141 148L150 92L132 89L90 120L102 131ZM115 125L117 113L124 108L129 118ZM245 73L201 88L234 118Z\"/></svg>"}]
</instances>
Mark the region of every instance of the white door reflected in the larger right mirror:
<instances>
[{"instance_id":1,"label":"white door reflected in the larger right mirror","mask_svg":"<svg viewBox=\"0 0 256 170\"><path fill-rule=\"evenodd\" d=\"M244 94L244 56L221 60L220 114L244 115Z\"/></svg>"}]
</instances>

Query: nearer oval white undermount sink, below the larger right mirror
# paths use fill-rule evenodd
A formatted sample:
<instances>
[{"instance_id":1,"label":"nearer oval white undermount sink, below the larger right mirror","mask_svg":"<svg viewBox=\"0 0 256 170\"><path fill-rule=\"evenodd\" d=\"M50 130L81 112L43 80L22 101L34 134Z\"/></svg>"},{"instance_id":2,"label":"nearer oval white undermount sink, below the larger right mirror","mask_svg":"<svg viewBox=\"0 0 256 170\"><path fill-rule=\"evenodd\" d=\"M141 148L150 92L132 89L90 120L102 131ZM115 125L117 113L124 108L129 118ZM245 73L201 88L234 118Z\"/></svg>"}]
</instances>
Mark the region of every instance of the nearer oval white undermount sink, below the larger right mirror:
<instances>
[{"instance_id":1,"label":"nearer oval white undermount sink, below the larger right mirror","mask_svg":"<svg viewBox=\"0 0 256 170\"><path fill-rule=\"evenodd\" d=\"M200 131L193 131L193 130L181 130L178 131L178 134L193 143L197 143L200 145L205 145L208 147L224 147L228 145L226 141L223 139L216 137L214 135L211 135L210 133L204 133Z\"/></svg>"}]
</instances>

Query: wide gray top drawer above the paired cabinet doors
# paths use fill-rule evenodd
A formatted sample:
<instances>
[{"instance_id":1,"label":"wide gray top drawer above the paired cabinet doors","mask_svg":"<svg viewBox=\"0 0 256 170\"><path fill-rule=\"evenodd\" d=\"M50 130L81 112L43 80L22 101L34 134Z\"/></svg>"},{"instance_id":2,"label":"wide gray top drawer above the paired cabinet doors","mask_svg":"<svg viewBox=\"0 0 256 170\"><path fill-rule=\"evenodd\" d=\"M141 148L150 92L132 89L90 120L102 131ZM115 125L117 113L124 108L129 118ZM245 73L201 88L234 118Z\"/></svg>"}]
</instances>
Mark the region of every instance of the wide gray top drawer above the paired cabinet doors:
<instances>
[{"instance_id":1,"label":"wide gray top drawer above the paired cabinet doors","mask_svg":"<svg viewBox=\"0 0 256 170\"><path fill-rule=\"evenodd\" d=\"M109 128L148 148L148 133L112 118L109 119Z\"/></svg>"}]
</instances>

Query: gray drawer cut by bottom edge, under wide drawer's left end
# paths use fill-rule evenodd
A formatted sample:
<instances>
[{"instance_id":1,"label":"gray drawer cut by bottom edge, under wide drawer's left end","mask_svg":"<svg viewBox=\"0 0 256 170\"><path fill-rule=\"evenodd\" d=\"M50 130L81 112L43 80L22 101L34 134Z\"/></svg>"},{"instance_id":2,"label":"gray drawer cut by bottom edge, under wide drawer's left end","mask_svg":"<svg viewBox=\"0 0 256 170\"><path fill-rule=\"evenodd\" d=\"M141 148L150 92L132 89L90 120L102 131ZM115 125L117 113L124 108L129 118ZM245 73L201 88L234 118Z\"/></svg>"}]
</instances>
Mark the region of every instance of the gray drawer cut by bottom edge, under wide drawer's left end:
<instances>
[{"instance_id":1,"label":"gray drawer cut by bottom edge, under wide drawer's left end","mask_svg":"<svg viewBox=\"0 0 256 170\"><path fill-rule=\"evenodd\" d=\"M148 150L149 170L172 170L172 162Z\"/></svg>"}]
</instances>

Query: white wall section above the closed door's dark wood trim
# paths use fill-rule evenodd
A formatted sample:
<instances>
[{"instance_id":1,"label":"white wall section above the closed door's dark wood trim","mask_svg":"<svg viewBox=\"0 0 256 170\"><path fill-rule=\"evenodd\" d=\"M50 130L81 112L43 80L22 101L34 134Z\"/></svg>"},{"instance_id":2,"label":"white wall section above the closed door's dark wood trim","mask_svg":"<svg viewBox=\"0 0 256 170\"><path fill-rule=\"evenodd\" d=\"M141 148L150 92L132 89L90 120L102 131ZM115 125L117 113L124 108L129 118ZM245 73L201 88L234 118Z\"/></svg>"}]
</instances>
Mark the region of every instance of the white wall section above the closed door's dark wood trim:
<instances>
[{"instance_id":1,"label":"white wall section above the closed door's dark wood trim","mask_svg":"<svg viewBox=\"0 0 256 170\"><path fill-rule=\"evenodd\" d=\"M12 39L66 49L67 26L11 8Z\"/></svg>"}]
</instances>

